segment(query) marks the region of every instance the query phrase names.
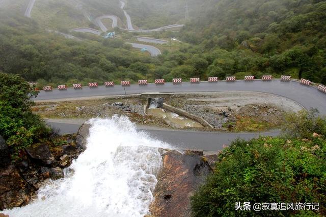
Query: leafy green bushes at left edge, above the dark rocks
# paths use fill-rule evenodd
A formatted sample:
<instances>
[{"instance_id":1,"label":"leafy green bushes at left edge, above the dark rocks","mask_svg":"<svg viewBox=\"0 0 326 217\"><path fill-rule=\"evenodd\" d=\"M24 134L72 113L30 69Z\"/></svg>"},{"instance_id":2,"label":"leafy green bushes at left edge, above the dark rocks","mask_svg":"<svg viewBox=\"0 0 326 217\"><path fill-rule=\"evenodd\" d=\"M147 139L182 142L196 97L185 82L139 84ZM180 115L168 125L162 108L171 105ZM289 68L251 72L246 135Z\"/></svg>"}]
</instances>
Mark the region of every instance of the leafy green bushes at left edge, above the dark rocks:
<instances>
[{"instance_id":1,"label":"leafy green bushes at left edge, above the dark rocks","mask_svg":"<svg viewBox=\"0 0 326 217\"><path fill-rule=\"evenodd\" d=\"M12 160L25 155L25 148L43 142L50 146L64 141L32 112L31 99L37 95L18 75L0 73L0 135L6 140Z\"/></svg>"}]
</instances>

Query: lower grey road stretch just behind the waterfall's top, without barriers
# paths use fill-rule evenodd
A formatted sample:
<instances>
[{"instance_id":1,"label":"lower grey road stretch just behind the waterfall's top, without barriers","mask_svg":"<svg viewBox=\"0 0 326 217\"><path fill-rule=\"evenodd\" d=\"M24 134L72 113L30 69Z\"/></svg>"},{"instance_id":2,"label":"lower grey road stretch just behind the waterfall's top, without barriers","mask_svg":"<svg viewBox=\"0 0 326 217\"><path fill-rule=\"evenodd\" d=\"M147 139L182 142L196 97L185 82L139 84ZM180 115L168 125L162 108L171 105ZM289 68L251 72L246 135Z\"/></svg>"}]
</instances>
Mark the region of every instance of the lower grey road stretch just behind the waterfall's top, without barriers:
<instances>
[{"instance_id":1,"label":"lower grey road stretch just behind the waterfall's top, without barriers","mask_svg":"<svg viewBox=\"0 0 326 217\"><path fill-rule=\"evenodd\" d=\"M60 129L62 134L76 133L80 127L79 124L64 124L47 122L53 128ZM195 149L204 151L218 151L223 149L223 144L230 144L230 141L240 139L252 139L262 136L277 136L280 131L262 132L262 133L227 133L227 132L198 132L185 130L167 130L167 129L144 129L140 127L139 131L145 131L152 138L165 141L179 149Z\"/></svg>"}]
</instances>

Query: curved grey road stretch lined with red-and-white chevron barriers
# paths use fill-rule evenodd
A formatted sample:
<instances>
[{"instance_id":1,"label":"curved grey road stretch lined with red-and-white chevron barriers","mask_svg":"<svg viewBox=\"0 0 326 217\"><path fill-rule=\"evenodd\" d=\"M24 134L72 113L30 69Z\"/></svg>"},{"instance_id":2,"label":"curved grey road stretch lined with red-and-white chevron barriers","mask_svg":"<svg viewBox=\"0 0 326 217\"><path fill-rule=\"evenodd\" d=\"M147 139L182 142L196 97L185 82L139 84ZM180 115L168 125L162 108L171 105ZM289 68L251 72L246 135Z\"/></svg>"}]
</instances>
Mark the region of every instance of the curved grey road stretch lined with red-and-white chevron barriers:
<instances>
[{"instance_id":1,"label":"curved grey road stretch lined with red-and-white chevron barriers","mask_svg":"<svg viewBox=\"0 0 326 217\"><path fill-rule=\"evenodd\" d=\"M303 85L297 81L219 81L182 84L166 83L164 85L132 84L130 86L115 85L113 87L99 86L97 88L83 87L83 89L68 88L67 90L53 89L40 91L36 100L52 100L79 97L94 97L102 95L140 94L146 92L180 93L180 92L221 92L221 91L254 91L280 95L289 98L306 109L317 108L321 114L326 115L326 94L318 89Z\"/></svg>"}]
</instances>

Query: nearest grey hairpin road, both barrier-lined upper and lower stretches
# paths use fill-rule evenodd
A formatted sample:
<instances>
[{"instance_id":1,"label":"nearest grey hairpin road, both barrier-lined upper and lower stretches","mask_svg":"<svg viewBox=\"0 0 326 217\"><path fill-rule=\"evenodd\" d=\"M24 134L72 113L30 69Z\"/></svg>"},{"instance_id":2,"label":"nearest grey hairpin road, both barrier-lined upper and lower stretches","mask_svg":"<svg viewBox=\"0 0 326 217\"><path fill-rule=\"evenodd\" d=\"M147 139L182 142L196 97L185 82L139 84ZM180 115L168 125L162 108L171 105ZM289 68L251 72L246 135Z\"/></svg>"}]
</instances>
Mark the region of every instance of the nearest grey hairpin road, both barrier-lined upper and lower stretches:
<instances>
[{"instance_id":1,"label":"nearest grey hairpin road, both barrier-lined upper and lower stretches","mask_svg":"<svg viewBox=\"0 0 326 217\"><path fill-rule=\"evenodd\" d=\"M69 88L68 90L55 89L50 92L41 91L38 100L51 99L67 99L78 97L91 97L101 95L124 95L127 94L160 92L160 93L180 93L180 92L220 92L220 91L253 91L264 92L280 95L289 98L298 104L301 104L306 109L311 107L317 108L322 115L326 115L326 94L317 90L315 87L303 85L297 81L284 82L280 80L262 81L255 80L226 82L219 81L218 83L200 82L189 83L184 82L179 85L166 83L165 85L138 85L130 86L116 85L114 87L99 86L98 88L84 87L80 90ZM55 120L49 120L47 123L59 128L62 133L75 133L80 123L59 123ZM251 139L262 136L277 136L281 132L270 131L261 133L229 133L229 132L196 132L185 130L170 130L161 128L138 127L140 131L147 132L151 137L166 141L180 149L195 149L204 151L217 151L223 149L223 144L229 144L230 141L241 138Z\"/></svg>"}]
</instances>

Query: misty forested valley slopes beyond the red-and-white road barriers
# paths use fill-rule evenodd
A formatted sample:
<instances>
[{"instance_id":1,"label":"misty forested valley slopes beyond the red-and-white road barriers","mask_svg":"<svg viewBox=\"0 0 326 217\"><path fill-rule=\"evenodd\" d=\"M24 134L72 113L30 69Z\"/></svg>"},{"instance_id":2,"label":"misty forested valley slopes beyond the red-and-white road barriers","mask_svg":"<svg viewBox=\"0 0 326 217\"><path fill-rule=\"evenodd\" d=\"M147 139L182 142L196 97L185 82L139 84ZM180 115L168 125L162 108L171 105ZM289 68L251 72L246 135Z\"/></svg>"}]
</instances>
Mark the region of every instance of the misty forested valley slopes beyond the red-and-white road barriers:
<instances>
[{"instance_id":1,"label":"misty forested valley slopes beyond the red-and-white road barriers","mask_svg":"<svg viewBox=\"0 0 326 217\"><path fill-rule=\"evenodd\" d=\"M59 3L52 3L58 11L55 14L69 18L71 23L84 16L87 8L90 20L85 25L89 27L95 27L94 17L110 7L107 13L124 17L118 1L110 4L102 0L83 1L78 15L74 14L76 9L69 11L70 1L65 3L64 10ZM127 2L126 7L135 23L142 28L154 28L184 19L184 4L184 1L137 0ZM120 39L79 34L87 39L76 41L48 33L44 30L46 23L40 20L42 10L37 9L42 5L36 5L33 21L3 10L0 70L38 81L39 86L122 79L137 82L144 78L224 79L231 75L243 79L245 75L260 78L266 74L291 75L326 84L325 1L221 0L188 1L187 5L189 18L180 33L152 35L179 37L183 41L175 42L173 49L171 44L159 46L162 55L158 58L133 50ZM46 22L55 28L60 26L60 17ZM57 30L67 32L66 23ZM116 31L120 37L132 39L131 33Z\"/></svg>"}]
</instances>

